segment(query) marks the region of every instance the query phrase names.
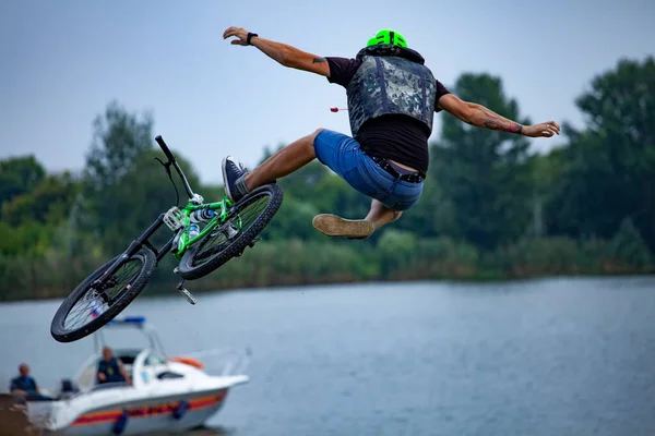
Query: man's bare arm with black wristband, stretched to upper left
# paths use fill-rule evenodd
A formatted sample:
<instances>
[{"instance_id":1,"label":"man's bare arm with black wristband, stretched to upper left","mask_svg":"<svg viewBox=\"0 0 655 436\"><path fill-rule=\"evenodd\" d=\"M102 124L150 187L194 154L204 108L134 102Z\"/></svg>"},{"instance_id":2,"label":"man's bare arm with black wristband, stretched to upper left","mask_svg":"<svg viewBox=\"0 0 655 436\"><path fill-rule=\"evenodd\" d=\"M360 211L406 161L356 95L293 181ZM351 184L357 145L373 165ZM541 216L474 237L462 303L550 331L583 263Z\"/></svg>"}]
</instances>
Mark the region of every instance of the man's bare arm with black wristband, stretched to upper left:
<instances>
[{"instance_id":1,"label":"man's bare arm with black wristband, stretched to upper left","mask_svg":"<svg viewBox=\"0 0 655 436\"><path fill-rule=\"evenodd\" d=\"M237 38L233 39L231 44L237 46L248 45L248 31L240 27L229 27L223 33L223 39L229 38L230 36ZM250 44L284 66L309 71L330 77L330 66L327 65L325 58L308 53L287 44L260 38L259 36L252 37Z\"/></svg>"}]
</instances>

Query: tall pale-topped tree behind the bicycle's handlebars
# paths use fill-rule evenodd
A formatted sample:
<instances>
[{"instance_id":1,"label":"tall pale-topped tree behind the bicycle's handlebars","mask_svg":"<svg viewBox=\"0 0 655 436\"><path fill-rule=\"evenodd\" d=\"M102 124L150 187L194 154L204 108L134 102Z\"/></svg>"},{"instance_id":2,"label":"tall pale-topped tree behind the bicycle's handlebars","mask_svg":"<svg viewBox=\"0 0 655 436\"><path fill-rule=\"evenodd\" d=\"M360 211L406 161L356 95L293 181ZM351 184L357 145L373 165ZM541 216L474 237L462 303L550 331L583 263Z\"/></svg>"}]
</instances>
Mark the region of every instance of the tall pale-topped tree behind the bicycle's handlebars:
<instances>
[{"instance_id":1,"label":"tall pale-topped tree behind the bicycle's handlebars","mask_svg":"<svg viewBox=\"0 0 655 436\"><path fill-rule=\"evenodd\" d=\"M139 119L117 102L94 121L94 140L84 169L84 207L74 220L82 231L96 237L107 255L124 250L160 213L175 205L175 191L155 160L164 155L153 147L152 124L148 116ZM178 153L176 158L191 186L200 191L191 164ZM175 171L172 177L183 203L183 186ZM165 241L169 237L164 227L155 241Z\"/></svg>"}]
</instances>

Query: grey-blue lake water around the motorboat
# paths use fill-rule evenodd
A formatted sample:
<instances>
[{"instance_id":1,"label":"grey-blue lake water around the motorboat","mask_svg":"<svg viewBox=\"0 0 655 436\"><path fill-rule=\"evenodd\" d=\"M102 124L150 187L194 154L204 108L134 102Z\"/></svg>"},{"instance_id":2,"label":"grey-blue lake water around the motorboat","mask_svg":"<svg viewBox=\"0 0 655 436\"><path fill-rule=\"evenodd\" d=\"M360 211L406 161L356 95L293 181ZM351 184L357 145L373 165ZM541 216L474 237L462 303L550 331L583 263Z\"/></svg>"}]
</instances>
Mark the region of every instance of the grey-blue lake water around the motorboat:
<instances>
[{"instance_id":1,"label":"grey-blue lake water around the motorboat","mask_svg":"<svg viewBox=\"0 0 655 436\"><path fill-rule=\"evenodd\" d=\"M218 434L655 435L655 278L371 283L148 299L169 354L252 350ZM49 336L58 301L0 305L0 389L70 377L93 342Z\"/></svg>"}]
</instances>

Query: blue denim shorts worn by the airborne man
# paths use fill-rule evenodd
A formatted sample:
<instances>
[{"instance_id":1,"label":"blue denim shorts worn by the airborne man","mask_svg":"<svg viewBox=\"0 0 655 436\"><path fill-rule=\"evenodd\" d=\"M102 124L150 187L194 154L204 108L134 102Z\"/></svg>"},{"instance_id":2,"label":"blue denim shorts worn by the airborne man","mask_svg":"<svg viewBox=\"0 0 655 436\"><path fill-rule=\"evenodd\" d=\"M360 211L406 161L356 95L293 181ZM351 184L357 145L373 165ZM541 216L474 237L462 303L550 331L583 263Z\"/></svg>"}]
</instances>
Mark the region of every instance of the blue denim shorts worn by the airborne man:
<instances>
[{"instance_id":1,"label":"blue denim shorts worn by the airborne man","mask_svg":"<svg viewBox=\"0 0 655 436\"><path fill-rule=\"evenodd\" d=\"M424 182L409 183L394 178L350 136L323 130L314 138L314 150L319 160L350 186L392 210L407 210L420 197Z\"/></svg>"}]
</instances>

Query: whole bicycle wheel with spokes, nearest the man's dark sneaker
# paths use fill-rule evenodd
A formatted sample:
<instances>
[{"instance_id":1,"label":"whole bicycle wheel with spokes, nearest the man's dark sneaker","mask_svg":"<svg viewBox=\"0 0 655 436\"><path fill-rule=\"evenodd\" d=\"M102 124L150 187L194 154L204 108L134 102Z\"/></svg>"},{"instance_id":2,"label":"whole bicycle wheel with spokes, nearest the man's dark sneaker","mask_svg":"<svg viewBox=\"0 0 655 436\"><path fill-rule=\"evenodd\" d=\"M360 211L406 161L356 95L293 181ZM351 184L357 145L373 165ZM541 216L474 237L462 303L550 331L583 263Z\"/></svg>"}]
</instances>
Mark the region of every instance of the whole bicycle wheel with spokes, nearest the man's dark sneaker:
<instances>
[{"instance_id":1,"label":"whole bicycle wheel with spokes, nearest the man's dark sneaker","mask_svg":"<svg viewBox=\"0 0 655 436\"><path fill-rule=\"evenodd\" d=\"M178 266L180 277L199 279L240 256L271 222L282 198L282 189L276 183L260 186L241 198L231 207L223 225L216 226L184 253Z\"/></svg>"}]
</instances>

